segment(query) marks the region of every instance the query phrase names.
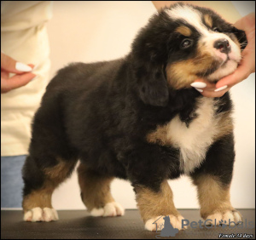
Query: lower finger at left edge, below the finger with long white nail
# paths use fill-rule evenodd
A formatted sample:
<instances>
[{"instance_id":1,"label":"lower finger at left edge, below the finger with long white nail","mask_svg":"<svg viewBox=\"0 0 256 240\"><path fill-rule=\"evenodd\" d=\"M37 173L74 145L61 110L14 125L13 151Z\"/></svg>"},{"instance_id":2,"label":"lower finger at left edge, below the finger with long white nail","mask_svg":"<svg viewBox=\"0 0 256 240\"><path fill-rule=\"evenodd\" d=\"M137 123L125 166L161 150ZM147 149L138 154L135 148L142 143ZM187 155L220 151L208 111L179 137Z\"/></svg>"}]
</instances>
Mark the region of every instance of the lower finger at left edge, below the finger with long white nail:
<instances>
[{"instance_id":1,"label":"lower finger at left edge, below the finger with long white nail","mask_svg":"<svg viewBox=\"0 0 256 240\"><path fill-rule=\"evenodd\" d=\"M17 89L22 86L25 86L34 77L36 77L36 75L31 72L17 74L14 77L10 78L1 77L1 94L7 93L12 89Z\"/></svg>"}]
</instances>

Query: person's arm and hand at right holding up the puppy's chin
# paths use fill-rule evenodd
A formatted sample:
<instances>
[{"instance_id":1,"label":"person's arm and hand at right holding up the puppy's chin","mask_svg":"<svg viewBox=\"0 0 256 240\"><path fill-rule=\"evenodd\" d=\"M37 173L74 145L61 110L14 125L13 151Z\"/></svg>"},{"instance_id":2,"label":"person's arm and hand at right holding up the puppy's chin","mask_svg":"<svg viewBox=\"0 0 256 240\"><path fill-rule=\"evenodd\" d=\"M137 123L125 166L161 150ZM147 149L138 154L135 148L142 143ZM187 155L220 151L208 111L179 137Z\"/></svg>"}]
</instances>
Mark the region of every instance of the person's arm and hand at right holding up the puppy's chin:
<instances>
[{"instance_id":1,"label":"person's arm and hand at right holding up the puppy's chin","mask_svg":"<svg viewBox=\"0 0 256 240\"><path fill-rule=\"evenodd\" d=\"M186 1L183 2L186 3ZM234 13L234 15L236 15L237 12L233 11L235 7L232 5L232 3L228 1L218 2L217 4L215 3L215 7L218 5L218 9L216 9L213 8L213 5L212 7L209 6L209 4L212 4L212 2L214 1L188 1L187 3L200 5L201 7L207 7L216 10L216 12L222 15L225 20L232 22L232 20L230 20L230 15ZM160 10L164 7L171 6L173 3L177 3L177 1L153 1L153 3L155 8ZM232 5L232 8L230 7L229 11L229 13L231 14L229 15L227 15L228 12L222 14L223 10L225 9L225 4ZM219 8L220 5L221 8ZM229 76L223 77L218 81L218 83L209 83L203 79L195 80L195 82L206 83L206 87L200 89L201 94L206 97L221 97L227 91L229 91L231 87L233 87L237 83L240 83L242 80L246 79L251 73L255 72L255 13L248 14L247 16L237 20L234 26L246 32L248 42L247 47L241 53L241 62L237 67L236 71L234 71Z\"/></svg>"}]
</instances>

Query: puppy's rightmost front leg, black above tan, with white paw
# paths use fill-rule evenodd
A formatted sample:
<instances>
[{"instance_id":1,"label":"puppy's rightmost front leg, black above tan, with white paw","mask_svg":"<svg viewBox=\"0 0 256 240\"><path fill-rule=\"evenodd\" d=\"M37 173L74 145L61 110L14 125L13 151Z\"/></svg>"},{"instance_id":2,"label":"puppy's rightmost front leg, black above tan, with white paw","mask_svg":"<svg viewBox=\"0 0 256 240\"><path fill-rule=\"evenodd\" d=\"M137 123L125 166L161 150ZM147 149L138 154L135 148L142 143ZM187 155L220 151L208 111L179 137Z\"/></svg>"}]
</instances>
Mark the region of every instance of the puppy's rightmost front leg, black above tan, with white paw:
<instances>
[{"instance_id":1,"label":"puppy's rightmost front leg, black above tan, with white paw","mask_svg":"<svg viewBox=\"0 0 256 240\"><path fill-rule=\"evenodd\" d=\"M224 135L207 151L199 169L191 174L197 186L201 217L212 225L235 225L241 214L230 203L230 183L235 160L233 134Z\"/></svg>"}]
</instances>

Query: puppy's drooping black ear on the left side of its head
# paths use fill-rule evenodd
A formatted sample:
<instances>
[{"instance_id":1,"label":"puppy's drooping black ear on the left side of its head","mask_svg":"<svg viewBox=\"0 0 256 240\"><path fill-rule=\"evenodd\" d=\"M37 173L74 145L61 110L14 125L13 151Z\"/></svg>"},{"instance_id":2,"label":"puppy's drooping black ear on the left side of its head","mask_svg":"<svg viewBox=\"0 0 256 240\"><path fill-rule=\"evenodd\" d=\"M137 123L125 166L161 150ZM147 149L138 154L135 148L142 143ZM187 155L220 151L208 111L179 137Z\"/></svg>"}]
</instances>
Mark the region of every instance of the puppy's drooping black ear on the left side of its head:
<instances>
[{"instance_id":1,"label":"puppy's drooping black ear on the left side of its head","mask_svg":"<svg viewBox=\"0 0 256 240\"><path fill-rule=\"evenodd\" d=\"M137 92L147 105L166 106L169 100L164 66L168 57L170 29L172 21L162 10L154 14L132 43L131 61Z\"/></svg>"}]
</instances>

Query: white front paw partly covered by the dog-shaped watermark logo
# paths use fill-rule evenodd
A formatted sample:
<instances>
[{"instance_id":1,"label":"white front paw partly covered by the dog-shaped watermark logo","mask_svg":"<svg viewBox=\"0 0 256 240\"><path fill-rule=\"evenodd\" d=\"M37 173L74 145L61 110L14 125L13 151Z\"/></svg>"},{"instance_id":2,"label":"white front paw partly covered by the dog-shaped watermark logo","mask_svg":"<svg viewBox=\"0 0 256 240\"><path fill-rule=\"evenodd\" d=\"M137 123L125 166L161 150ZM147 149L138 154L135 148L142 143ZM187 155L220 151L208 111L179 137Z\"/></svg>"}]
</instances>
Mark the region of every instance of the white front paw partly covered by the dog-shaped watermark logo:
<instances>
[{"instance_id":1,"label":"white front paw partly covered by the dog-shaped watermark logo","mask_svg":"<svg viewBox=\"0 0 256 240\"><path fill-rule=\"evenodd\" d=\"M182 229L182 220L184 219L182 215L167 215L169 217L170 222L172 224L173 228L177 228L178 230ZM166 216L158 216L156 218L147 220L145 224L145 228L148 231L156 231L156 223L157 223L157 231L160 231L166 226L165 220ZM184 226L183 229L187 228L187 226Z\"/></svg>"}]
</instances>

